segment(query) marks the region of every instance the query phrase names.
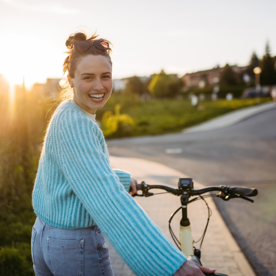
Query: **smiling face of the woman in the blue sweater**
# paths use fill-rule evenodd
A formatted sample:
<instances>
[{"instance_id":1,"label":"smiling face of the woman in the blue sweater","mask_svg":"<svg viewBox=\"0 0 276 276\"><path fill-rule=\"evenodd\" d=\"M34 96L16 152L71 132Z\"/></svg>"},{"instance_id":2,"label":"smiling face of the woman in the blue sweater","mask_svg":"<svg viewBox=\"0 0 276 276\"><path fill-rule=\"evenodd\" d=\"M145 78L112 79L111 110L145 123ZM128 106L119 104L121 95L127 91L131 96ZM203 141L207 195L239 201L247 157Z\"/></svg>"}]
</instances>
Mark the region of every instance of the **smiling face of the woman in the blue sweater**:
<instances>
[{"instance_id":1,"label":"smiling face of the woman in the blue sweater","mask_svg":"<svg viewBox=\"0 0 276 276\"><path fill-rule=\"evenodd\" d=\"M103 108L112 92L112 68L107 57L88 55L77 65L74 79L68 77L74 87L73 100L91 114Z\"/></svg>"}]
</instances>

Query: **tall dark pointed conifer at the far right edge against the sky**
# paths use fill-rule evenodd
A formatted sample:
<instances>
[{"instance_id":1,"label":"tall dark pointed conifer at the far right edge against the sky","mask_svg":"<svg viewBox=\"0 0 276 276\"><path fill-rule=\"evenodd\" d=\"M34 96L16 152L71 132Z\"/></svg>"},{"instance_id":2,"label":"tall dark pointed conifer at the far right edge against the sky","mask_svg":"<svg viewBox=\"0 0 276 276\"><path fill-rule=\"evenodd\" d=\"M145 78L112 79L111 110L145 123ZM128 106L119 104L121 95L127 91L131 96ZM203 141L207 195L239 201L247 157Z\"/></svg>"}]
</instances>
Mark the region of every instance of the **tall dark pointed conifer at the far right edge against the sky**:
<instances>
[{"instance_id":1,"label":"tall dark pointed conifer at the far right edge against the sky","mask_svg":"<svg viewBox=\"0 0 276 276\"><path fill-rule=\"evenodd\" d=\"M260 75L260 81L262 85L272 85L276 83L276 70L275 61L270 55L269 42L266 43L266 53L261 61L262 73Z\"/></svg>"}]
</instances>

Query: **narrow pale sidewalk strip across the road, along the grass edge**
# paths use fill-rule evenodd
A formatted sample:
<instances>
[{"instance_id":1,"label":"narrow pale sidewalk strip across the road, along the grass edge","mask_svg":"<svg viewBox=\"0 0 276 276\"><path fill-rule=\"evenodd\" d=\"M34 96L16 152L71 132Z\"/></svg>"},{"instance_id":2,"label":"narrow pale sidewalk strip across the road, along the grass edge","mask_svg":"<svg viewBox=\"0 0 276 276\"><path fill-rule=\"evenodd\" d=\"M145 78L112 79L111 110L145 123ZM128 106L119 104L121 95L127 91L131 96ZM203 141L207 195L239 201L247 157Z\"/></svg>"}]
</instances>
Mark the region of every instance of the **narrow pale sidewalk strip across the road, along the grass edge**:
<instances>
[{"instance_id":1,"label":"narrow pale sidewalk strip across the road, along the grass edge","mask_svg":"<svg viewBox=\"0 0 276 276\"><path fill-rule=\"evenodd\" d=\"M248 108L242 108L233 112L230 112L226 115L219 116L215 119L211 119L210 121L206 121L197 126L192 126L191 128L187 128L183 132L185 133L194 133L208 130L216 130L218 128L225 128L226 126L232 126L234 124L239 123L239 121L243 121L249 117L257 115L266 110L270 110L276 108L276 103L268 102L258 104L257 106L250 106Z\"/></svg>"}]
</instances>

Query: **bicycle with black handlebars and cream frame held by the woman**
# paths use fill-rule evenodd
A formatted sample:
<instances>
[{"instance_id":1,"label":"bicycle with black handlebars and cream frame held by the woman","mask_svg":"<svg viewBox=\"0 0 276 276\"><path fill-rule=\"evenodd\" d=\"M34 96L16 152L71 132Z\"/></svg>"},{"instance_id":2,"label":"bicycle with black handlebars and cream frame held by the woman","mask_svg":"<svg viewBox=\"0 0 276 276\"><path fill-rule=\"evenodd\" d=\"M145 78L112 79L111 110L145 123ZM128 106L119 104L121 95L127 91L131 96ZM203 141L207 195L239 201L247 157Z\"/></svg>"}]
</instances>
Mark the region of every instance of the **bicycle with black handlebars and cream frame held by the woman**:
<instances>
[{"instance_id":1,"label":"bicycle with black handlebars and cream frame held by the woman","mask_svg":"<svg viewBox=\"0 0 276 276\"><path fill-rule=\"evenodd\" d=\"M202 242L204 241L204 236L206 234L206 230L208 228L208 223L209 219L211 216L211 210L208 206L208 203L206 202L205 198L206 197L220 197L224 201L228 201L233 198L240 198L240 199L245 199L250 202L254 202L252 199L249 199L248 197L255 197L258 194L258 190L255 188L246 188L246 187L230 187L230 186L207 186L206 188L201 188L201 189L194 189L193 186L193 179L192 178L179 178L178 181L178 188L172 188L169 186L163 186L163 185L147 185L144 181L141 182L141 184L136 184L137 191L141 190L141 194L134 194L132 197L150 197L152 195L158 195L154 193L150 193L149 190L152 189L161 189L161 190L166 190L166 193L171 193L172 195L177 195L180 196L180 201L181 201L181 207L179 207L175 213L172 213L170 216L170 219L168 221L168 228L170 230L170 235L172 236L172 240L175 242L179 250L181 250L184 255L188 257L189 260L199 264L202 266L200 262L200 257L201 257L201 245ZM131 191L131 188L130 188ZM210 195L204 195L201 196L205 193L210 193L210 192L220 192L219 194L210 194ZM190 199L190 197L195 197L193 199ZM201 236L199 240L201 240L199 249L195 248L193 246L193 236L192 236L192 230L190 228L190 221L188 219L188 214L187 214L187 206L188 204L197 201L199 199L202 199L205 201L206 206L208 208L208 219L207 219L207 224L204 229L204 233ZM180 226L179 226L179 237L180 240L177 239L175 236L175 233L173 233L172 228L170 226L170 223L172 221L172 218L175 216L179 210L182 210L182 217L180 219ZM199 241L198 241L199 242ZM206 276L227 276L225 274L221 273L213 273L213 274L207 274L204 273Z\"/></svg>"}]
</instances>

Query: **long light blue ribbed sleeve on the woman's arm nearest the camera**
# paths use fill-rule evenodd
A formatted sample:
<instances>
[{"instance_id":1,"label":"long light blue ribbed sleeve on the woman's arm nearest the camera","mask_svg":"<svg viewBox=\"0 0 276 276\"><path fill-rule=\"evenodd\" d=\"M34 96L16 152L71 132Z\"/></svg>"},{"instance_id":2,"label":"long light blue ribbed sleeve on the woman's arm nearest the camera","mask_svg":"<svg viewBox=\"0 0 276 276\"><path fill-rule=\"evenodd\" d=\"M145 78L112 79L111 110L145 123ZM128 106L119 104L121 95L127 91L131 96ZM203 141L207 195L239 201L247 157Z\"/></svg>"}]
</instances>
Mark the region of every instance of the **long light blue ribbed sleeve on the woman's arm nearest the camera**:
<instances>
[{"instance_id":1,"label":"long light blue ribbed sleeve on the woman's arm nearest the camera","mask_svg":"<svg viewBox=\"0 0 276 276\"><path fill-rule=\"evenodd\" d=\"M68 108L52 122L52 135L59 169L128 267L137 276L173 275L185 255L119 183L96 124Z\"/></svg>"}]
</instances>

